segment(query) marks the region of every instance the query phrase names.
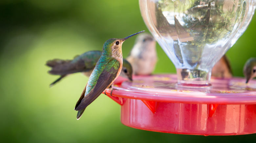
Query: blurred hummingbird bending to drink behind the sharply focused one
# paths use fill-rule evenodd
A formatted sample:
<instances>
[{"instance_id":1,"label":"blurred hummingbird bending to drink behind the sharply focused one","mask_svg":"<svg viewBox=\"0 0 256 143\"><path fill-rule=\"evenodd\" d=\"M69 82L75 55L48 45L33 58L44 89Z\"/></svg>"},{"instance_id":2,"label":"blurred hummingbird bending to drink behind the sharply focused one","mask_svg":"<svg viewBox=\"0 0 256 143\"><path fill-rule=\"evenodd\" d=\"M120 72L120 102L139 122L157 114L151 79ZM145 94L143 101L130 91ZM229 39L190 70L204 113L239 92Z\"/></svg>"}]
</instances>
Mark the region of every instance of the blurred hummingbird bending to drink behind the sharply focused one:
<instances>
[{"instance_id":1,"label":"blurred hummingbird bending to drink behind the sharply focused one","mask_svg":"<svg viewBox=\"0 0 256 143\"><path fill-rule=\"evenodd\" d=\"M46 65L52 67L48 72L50 74L60 75L50 86L53 86L68 74L76 72L82 72L89 77L101 55L102 51L88 51L82 55L75 56L73 60L48 60ZM132 81L132 66L125 59L123 59L123 67L120 75Z\"/></svg>"}]
</instances>

